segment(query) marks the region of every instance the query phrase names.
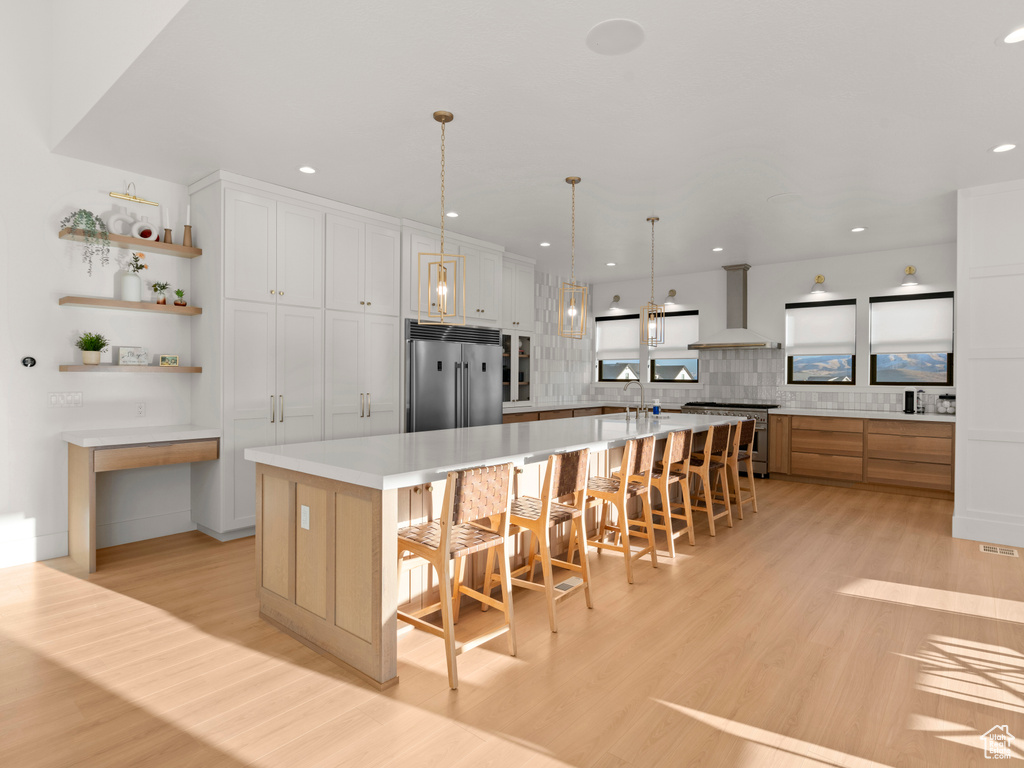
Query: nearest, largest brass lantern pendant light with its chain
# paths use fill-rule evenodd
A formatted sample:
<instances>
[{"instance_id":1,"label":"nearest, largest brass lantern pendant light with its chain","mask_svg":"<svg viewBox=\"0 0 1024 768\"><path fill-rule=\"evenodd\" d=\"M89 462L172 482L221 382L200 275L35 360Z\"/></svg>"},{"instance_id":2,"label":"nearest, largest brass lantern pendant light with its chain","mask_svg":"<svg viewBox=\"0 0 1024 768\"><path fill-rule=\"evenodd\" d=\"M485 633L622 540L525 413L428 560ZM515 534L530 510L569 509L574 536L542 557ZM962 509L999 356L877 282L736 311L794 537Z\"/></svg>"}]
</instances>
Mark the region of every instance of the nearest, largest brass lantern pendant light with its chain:
<instances>
[{"instance_id":1,"label":"nearest, largest brass lantern pendant light with its chain","mask_svg":"<svg viewBox=\"0 0 1024 768\"><path fill-rule=\"evenodd\" d=\"M466 257L444 253L444 125L455 120L455 115L435 112L434 120L441 124L441 244L440 253L420 253L418 256L418 315L419 322L425 326L465 326ZM423 285L424 280L426 286Z\"/></svg>"}]
</instances>

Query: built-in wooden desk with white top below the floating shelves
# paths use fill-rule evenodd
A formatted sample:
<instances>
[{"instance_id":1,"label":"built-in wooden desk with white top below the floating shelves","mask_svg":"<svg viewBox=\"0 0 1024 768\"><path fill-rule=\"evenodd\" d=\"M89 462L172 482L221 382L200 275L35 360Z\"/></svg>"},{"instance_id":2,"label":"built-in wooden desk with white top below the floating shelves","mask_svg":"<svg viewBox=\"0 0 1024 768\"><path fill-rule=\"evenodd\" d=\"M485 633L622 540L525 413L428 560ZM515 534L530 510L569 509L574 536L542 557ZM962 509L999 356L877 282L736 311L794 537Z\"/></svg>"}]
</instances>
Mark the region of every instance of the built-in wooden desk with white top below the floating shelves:
<instances>
[{"instance_id":1,"label":"built-in wooden desk with white top below the floating shelves","mask_svg":"<svg viewBox=\"0 0 1024 768\"><path fill-rule=\"evenodd\" d=\"M96 570L96 472L212 461L220 430L193 424L65 432L68 443L68 554Z\"/></svg>"}]
</instances>

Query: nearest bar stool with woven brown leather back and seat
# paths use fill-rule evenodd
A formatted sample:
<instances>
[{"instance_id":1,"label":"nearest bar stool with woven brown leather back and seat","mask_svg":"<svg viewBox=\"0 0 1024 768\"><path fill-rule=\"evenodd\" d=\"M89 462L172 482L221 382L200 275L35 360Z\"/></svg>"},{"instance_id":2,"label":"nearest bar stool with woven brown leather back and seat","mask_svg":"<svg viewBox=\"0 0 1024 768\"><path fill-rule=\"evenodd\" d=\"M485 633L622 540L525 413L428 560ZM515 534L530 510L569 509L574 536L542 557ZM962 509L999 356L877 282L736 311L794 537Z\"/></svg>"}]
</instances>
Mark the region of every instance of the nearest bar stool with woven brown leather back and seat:
<instances>
[{"instance_id":1,"label":"nearest bar stool with woven brown leather back and seat","mask_svg":"<svg viewBox=\"0 0 1024 768\"><path fill-rule=\"evenodd\" d=\"M505 546L509 534L509 502L512 479L512 465L475 467L458 472L449 472L444 488L444 501L440 520L413 525L398 531L398 570L419 565L416 558L422 558L437 572L440 599L433 605L420 608L413 613L398 611L398 618L417 629L444 639L447 656L449 685L453 690L459 687L459 673L456 656L500 635L508 635L509 653L515 655L515 630L512 616L512 585L509 582L509 556ZM497 525L487 527L480 521L492 518ZM502 599L495 600L489 595L472 590L456 582L455 594L452 588L452 559L462 560L474 552L488 551L498 557L498 568L502 586ZM402 558L408 552L414 558ZM493 564L493 563L492 563ZM459 568L461 570L461 568ZM484 605L498 608L505 614L505 623L496 630L488 630L463 642L456 642L453 620L454 601L466 594ZM425 622L421 616L440 608L441 626Z\"/></svg>"}]
</instances>

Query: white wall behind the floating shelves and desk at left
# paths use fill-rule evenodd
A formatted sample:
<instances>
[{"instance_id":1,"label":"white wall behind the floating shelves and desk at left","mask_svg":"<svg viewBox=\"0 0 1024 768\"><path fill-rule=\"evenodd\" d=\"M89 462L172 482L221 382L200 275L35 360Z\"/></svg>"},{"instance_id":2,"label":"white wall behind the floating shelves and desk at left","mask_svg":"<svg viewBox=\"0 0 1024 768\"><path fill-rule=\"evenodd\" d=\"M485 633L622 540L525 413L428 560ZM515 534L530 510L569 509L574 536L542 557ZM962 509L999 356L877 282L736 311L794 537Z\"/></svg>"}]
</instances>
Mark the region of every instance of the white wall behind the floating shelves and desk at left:
<instances>
[{"instance_id":1,"label":"white wall behind the floating shelves and desk at left","mask_svg":"<svg viewBox=\"0 0 1024 768\"><path fill-rule=\"evenodd\" d=\"M57 240L57 222L71 210L103 214L108 191L134 180L138 194L184 210L185 189L113 168L51 155L48 147L50 3L7 3L0 25L0 566L67 554L67 449L71 429L171 424L188 420L187 375L61 374L78 362L73 340L101 332L116 344L139 344L153 353L177 352L189 361L187 318L138 312L61 307L63 295L115 296L116 267L86 276L81 246ZM69 87L67 83L59 87ZM73 87L73 86L71 86ZM117 136L111 137L112 141ZM157 209L148 209L156 212ZM159 214L157 214L159 215ZM180 238L180 226L177 234ZM112 257L124 252L112 251ZM146 282L166 280L188 289L188 263L148 257ZM32 355L35 368L19 360ZM82 408L50 408L49 392L82 392ZM146 417L134 403L146 403ZM187 465L140 470L117 488L101 483L101 542L131 530L169 532L185 523ZM125 473L128 474L128 473ZM139 523L151 519L150 523ZM123 525L115 525L123 521ZM187 523L190 526L190 522ZM171 525L170 527L175 527ZM134 537L142 538L142 537Z\"/></svg>"}]
</instances>

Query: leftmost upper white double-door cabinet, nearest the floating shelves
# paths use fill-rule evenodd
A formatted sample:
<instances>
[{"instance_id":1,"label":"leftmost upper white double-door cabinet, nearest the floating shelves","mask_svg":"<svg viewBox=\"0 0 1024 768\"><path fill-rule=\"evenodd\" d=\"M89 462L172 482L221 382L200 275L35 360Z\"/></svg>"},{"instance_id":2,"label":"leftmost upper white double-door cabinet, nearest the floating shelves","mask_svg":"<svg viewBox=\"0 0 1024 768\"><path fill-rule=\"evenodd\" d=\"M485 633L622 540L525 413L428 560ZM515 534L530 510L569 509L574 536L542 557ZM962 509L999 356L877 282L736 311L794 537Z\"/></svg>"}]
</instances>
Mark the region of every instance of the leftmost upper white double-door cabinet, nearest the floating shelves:
<instances>
[{"instance_id":1,"label":"leftmost upper white double-door cabinet, nearest the floating shelves","mask_svg":"<svg viewBox=\"0 0 1024 768\"><path fill-rule=\"evenodd\" d=\"M323 306L323 211L225 189L224 296Z\"/></svg>"}]
</instances>

